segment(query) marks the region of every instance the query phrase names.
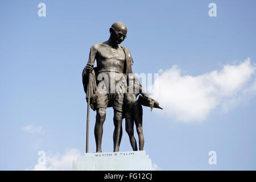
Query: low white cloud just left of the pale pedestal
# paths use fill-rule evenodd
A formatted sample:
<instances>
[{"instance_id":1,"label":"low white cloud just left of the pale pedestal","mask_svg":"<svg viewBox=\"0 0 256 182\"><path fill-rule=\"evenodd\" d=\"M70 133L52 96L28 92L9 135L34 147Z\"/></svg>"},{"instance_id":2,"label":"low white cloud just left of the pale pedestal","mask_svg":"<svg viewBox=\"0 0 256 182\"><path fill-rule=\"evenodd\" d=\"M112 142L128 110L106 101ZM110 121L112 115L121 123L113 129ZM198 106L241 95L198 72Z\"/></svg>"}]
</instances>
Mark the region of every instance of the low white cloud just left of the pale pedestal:
<instances>
[{"instance_id":1,"label":"low white cloud just left of the pale pedestal","mask_svg":"<svg viewBox=\"0 0 256 182\"><path fill-rule=\"evenodd\" d=\"M36 164L34 171L59 171L65 170L69 171L72 169L73 160L77 160L77 158L81 156L81 153L76 148L67 149L65 154L59 155L49 155L46 153L46 165L44 164Z\"/></svg>"}]
</instances>

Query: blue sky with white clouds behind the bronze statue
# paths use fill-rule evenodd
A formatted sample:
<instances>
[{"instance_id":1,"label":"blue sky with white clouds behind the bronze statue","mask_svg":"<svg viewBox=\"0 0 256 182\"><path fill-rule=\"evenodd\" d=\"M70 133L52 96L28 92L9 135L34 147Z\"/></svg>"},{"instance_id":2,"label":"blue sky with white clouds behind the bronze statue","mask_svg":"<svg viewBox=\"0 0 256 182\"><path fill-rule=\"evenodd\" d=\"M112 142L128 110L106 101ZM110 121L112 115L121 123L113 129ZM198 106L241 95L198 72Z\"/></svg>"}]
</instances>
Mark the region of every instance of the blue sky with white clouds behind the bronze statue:
<instances>
[{"instance_id":1,"label":"blue sky with white clouds behind the bronze statue","mask_svg":"<svg viewBox=\"0 0 256 182\"><path fill-rule=\"evenodd\" d=\"M40 2L46 17L38 16ZM217 17L208 15L212 2ZM33 169L38 151L58 169L56 163L85 152L81 72L90 47L121 21L133 71L160 70L160 88L167 86L156 98L163 111L143 108L144 150L154 167L255 170L255 6L253 0L1 1L0 169ZM102 150L109 152L113 109L106 114ZM96 151L94 118L91 110L89 152ZM120 150L131 151L126 133ZM216 151L217 165L209 165L209 151Z\"/></svg>"}]
</instances>

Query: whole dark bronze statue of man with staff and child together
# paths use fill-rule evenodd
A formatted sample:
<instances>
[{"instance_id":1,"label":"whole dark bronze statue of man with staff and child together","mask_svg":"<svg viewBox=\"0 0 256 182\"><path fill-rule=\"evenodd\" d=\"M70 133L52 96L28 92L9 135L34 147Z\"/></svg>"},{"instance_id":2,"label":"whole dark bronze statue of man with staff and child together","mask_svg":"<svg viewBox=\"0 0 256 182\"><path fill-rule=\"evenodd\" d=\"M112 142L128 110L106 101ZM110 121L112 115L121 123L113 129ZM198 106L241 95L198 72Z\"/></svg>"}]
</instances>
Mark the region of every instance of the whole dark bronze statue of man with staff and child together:
<instances>
[{"instance_id":1,"label":"whole dark bronze statue of man with staff and child together","mask_svg":"<svg viewBox=\"0 0 256 182\"><path fill-rule=\"evenodd\" d=\"M96 110L96 123L94 127L96 152L102 152L101 142L103 124L106 118L106 107L113 107L114 152L119 151L123 118L126 120L126 131L133 150L138 150L134 138L134 123L139 135L139 150L143 150L142 105L150 106L151 109L152 107L160 107L158 102L143 92L138 78L133 75L131 69L133 58L129 49L119 46L126 38L126 25L122 22L115 22L109 31L110 37L106 42L94 44L90 48L89 60L82 72L82 81L86 100L88 101L87 128L89 126L90 105L93 110ZM97 67L94 67L95 60L97 61ZM129 89L131 87L133 89ZM136 88L138 92L130 92L130 90L136 90ZM139 94L142 94L141 97L143 97L141 101L137 101ZM88 134L86 136L86 152L88 152Z\"/></svg>"}]
</instances>

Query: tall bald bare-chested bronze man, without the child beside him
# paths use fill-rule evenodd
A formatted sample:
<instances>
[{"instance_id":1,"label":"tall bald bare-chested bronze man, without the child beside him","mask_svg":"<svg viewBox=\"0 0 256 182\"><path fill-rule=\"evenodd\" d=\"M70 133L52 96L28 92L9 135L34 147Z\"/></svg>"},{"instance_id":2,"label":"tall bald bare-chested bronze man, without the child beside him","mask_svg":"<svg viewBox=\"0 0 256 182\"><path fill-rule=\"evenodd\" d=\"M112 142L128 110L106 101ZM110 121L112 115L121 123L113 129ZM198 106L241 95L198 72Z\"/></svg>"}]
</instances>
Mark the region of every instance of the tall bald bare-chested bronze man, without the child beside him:
<instances>
[{"instance_id":1,"label":"tall bald bare-chested bronze man, without the child beside him","mask_svg":"<svg viewBox=\"0 0 256 182\"><path fill-rule=\"evenodd\" d=\"M94 98L96 108L94 127L96 152L102 152L101 142L106 107L113 107L114 109L114 152L119 151L122 136L123 90L126 90L127 86L125 85L125 75L132 73L131 65L133 64L129 49L119 46L126 38L127 27L125 24L115 22L109 31L110 37L106 42L94 44L90 48L89 60L84 69L87 73L95 72L95 78L93 79L96 79L97 84L96 97ZM95 59L97 67L93 68ZM120 80L124 82L120 82Z\"/></svg>"}]
</instances>

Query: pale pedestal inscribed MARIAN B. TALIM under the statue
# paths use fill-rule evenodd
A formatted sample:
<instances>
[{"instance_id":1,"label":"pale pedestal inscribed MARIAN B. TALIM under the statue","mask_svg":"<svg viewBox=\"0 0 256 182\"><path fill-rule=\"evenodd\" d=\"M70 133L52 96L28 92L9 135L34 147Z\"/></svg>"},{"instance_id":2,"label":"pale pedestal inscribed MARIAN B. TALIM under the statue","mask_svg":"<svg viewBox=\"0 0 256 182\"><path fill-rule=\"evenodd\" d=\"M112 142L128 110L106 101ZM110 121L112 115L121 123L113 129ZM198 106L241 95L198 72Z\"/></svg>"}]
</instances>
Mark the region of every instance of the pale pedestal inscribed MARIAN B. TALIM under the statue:
<instances>
[{"instance_id":1,"label":"pale pedestal inscribed MARIAN B. TALIM under the statue","mask_svg":"<svg viewBox=\"0 0 256 182\"><path fill-rule=\"evenodd\" d=\"M151 171L145 151L85 153L73 161L73 171Z\"/></svg>"}]
</instances>

